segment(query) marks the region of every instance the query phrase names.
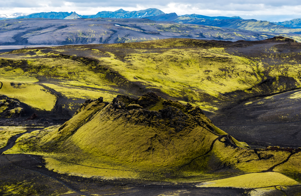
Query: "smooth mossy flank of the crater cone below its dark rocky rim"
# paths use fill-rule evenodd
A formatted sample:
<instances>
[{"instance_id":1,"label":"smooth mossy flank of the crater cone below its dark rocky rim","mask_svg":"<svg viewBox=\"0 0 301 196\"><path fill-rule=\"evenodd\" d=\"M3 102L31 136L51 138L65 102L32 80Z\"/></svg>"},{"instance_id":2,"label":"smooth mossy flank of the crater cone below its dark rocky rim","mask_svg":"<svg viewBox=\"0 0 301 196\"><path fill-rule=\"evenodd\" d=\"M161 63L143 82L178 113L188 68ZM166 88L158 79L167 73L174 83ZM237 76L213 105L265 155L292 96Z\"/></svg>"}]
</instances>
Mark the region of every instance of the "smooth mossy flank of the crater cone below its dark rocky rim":
<instances>
[{"instance_id":1,"label":"smooth mossy flank of the crater cone below its dark rocky rim","mask_svg":"<svg viewBox=\"0 0 301 196\"><path fill-rule=\"evenodd\" d=\"M123 101L123 103L125 102ZM125 104L127 107L135 106L135 104ZM165 108L173 104L178 109L185 109L185 106L177 102L163 101L162 104L165 105ZM71 152L80 149L79 152L101 156L103 160L109 161L112 159L122 165L130 165L141 169L146 167L155 169L185 164L191 159L191 156L201 155L209 150L210 145L201 142L202 140L207 138L210 143L216 139L214 134L194 126L183 130L182 133L177 133L177 128L166 127L167 122L157 120L156 117L152 119L151 124L159 123L159 125L145 127L145 125L142 125L144 123L137 124L140 121L145 121L145 117L140 116L139 112L135 112L135 110L129 110L129 115L135 116L131 120L133 122L124 124L126 117L118 118L118 115L115 116L111 105L110 107L107 106L106 109L102 109L105 106L105 103L99 103L98 101L90 103L74 115L70 121L66 122L62 126L64 128L57 129L43 137L42 144L54 147L67 145L65 149ZM206 121L207 124L210 122L204 115L200 120ZM89 132L87 133L86 130L89 130ZM121 135L123 136L122 140L120 139ZM69 137L71 140L68 139L69 144L67 144L66 139ZM108 137L110 140L107 140ZM162 143L163 141L164 143ZM171 142L171 145L166 145L166 142ZM98 145L95 145L96 143ZM185 145L193 147L184 149ZM170 154L174 156L170 156Z\"/></svg>"}]
</instances>

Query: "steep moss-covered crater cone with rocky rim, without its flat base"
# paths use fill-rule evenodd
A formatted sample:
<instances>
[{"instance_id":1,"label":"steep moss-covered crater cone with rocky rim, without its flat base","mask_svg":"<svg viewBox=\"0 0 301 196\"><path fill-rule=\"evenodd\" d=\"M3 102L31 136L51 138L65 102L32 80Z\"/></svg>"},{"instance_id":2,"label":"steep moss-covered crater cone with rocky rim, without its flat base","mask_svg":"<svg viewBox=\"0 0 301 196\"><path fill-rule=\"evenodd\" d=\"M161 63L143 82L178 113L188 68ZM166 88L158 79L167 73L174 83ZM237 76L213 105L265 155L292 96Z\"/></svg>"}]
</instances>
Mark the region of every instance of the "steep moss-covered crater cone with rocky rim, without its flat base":
<instances>
[{"instance_id":1,"label":"steep moss-covered crater cone with rocky rim, without its flat base","mask_svg":"<svg viewBox=\"0 0 301 196\"><path fill-rule=\"evenodd\" d=\"M73 161L65 156L69 163L87 164L85 159L94 157L112 169L126 167L143 173L190 164L210 151L219 136L199 108L153 93L139 99L117 96L105 105L88 101L70 121L44 136L39 145L48 152L81 154ZM206 160L201 161L206 165Z\"/></svg>"}]
</instances>

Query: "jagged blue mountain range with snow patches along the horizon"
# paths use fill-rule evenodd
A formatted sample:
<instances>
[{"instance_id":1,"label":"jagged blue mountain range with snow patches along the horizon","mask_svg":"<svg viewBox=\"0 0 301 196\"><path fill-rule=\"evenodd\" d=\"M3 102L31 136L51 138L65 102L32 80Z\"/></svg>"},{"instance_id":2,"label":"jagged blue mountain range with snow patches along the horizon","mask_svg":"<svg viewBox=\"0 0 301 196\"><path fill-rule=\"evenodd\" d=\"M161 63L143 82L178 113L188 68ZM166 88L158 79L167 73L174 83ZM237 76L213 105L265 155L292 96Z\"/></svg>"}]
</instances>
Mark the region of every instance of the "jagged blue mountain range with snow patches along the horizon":
<instances>
[{"instance_id":1,"label":"jagged blue mountain range with snow patches along the horizon","mask_svg":"<svg viewBox=\"0 0 301 196\"><path fill-rule=\"evenodd\" d=\"M2 18L1 18L2 17ZM101 11L95 15L79 15L76 12L41 12L34 14L3 14L1 19L8 18L50 18L50 19L77 19L77 18L144 18L154 21L170 21L181 24L197 24L205 26L215 26L221 28L243 29L256 32L272 32L272 33L294 33L301 34L301 18L284 22L268 22L261 20L244 20L239 16L210 17L198 14L186 14L178 16L176 13L165 14L156 8L148 8L139 11L125 11L119 9L117 11Z\"/></svg>"}]
</instances>

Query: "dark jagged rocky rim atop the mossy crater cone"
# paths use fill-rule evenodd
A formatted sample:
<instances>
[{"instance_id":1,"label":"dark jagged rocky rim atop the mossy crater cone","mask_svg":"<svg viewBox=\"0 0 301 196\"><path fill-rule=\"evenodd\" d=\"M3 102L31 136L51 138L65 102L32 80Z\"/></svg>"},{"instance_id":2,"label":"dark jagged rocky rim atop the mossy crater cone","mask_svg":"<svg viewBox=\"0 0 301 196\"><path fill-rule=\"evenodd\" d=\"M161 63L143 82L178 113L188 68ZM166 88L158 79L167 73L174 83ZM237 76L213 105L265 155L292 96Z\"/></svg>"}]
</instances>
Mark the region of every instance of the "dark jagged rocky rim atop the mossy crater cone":
<instances>
[{"instance_id":1,"label":"dark jagged rocky rim atop the mossy crater cone","mask_svg":"<svg viewBox=\"0 0 301 196\"><path fill-rule=\"evenodd\" d=\"M139 99L117 95L106 110L115 120L125 118L131 123L148 127L160 126L161 129L168 127L180 132L187 127L205 125L214 132L212 122L199 107L163 99L155 93L147 93Z\"/></svg>"}]
</instances>

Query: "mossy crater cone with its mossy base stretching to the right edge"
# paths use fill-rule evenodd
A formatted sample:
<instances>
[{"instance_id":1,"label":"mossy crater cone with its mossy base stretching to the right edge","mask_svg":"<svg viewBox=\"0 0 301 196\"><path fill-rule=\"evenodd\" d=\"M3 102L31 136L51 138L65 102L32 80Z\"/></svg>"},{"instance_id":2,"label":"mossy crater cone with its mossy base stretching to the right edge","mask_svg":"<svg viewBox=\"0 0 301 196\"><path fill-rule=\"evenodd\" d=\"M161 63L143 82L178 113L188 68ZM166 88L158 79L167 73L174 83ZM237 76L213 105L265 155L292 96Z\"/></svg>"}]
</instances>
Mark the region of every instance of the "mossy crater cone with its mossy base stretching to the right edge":
<instances>
[{"instance_id":1,"label":"mossy crater cone with its mossy base stretching to the right edge","mask_svg":"<svg viewBox=\"0 0 301 196\"><path fill-rule=\"evenodd\" d=\"M155 93L118 95L111 103L87 100L61 127L26 143L31 145L22 152L47 153L47 167L60 173L176 181L269 171L296 178L301 151L249 149L215 127L200 108ZM293 167L281 167L288 160Z\"/></svg>"}]
</instances>

